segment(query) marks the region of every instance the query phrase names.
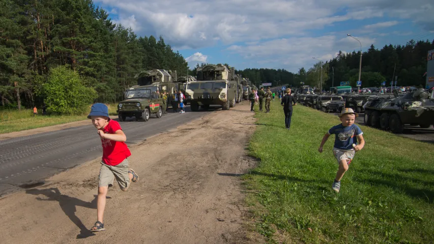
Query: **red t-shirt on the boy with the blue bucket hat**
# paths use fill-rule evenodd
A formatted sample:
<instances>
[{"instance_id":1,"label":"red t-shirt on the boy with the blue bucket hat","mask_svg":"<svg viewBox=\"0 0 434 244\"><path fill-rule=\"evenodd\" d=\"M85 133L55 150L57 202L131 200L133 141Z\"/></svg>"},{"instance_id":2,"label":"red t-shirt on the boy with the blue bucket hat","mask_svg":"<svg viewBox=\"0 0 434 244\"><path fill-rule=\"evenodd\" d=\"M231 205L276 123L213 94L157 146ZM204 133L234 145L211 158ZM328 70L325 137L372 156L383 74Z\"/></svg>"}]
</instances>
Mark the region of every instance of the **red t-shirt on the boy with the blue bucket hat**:
<instances>
[{"instance_id":1,"label":"red t-shirt on the boy with the blue bucket hat","mask_svg":"<svg viewBox=\"0 0 434 244\"><path fill-rule=\"evenodd\" d=\"M110 119L108 125L103 129L106 134L114 134L116 131L122 130L118 121ZM126 158L131 156L130 149L123 141L113 141L109 139L101 139L102 144L102 161L106 165L115 166Z\"/></svg>"}]
</instances>

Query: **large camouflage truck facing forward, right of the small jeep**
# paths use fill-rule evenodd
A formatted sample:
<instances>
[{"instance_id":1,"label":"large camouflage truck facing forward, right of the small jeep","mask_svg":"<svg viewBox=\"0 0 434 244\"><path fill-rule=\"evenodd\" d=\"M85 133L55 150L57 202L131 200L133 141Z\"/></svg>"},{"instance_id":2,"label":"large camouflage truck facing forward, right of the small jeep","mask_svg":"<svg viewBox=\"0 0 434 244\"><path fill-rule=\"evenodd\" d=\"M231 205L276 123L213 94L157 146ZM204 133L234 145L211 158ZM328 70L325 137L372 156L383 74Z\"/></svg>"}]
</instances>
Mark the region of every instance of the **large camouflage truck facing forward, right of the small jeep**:
<instances>
[{"instance_id":1,"label":"large camouflage truck facing forward, right of the small jeep","mask_svg":"<svg viewBox=\"0 0 434 244\"><path fill-rule=\"evenodd\" d=\"M221 105L223 109L235 107L238 82L230 79L231 73L224 65L207 65L197 69L197 81L187 83L186 100L192 111L199 106L208 109L210 105Z\"/></svg>"}]
</instances>

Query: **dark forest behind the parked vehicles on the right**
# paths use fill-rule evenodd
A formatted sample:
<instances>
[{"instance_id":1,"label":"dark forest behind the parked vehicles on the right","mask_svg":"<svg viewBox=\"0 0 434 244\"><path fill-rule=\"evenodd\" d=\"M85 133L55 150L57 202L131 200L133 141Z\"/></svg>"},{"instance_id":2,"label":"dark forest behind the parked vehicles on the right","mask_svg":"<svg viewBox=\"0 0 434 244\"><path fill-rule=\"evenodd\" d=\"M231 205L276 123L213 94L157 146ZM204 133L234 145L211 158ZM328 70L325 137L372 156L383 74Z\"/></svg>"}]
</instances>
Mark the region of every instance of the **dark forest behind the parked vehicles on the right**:
<instances>
[{"instance_id":1,"label":"dark forest behind the parked vehicles on the right","mask_svg":"<svg viewBox=\"0 0 434 244\"><path fill-rule=\"evenodd\" d=\"M425 86L426 58L429 50L434 49L432 42L411 40L406 45L385 45L378 50L371 45L362 53L362 87L381 86L383 81L390 85L396 79L397 85ZM356 86L359 79L360 51L343 53L323 63L323 87L338 86L341 81L350 81ZM393 77L393 78L392 78ZM321 81L321 62L306 71L301 68L295 75L295 83L319 86Z\"/></svg>"}]
</instances>

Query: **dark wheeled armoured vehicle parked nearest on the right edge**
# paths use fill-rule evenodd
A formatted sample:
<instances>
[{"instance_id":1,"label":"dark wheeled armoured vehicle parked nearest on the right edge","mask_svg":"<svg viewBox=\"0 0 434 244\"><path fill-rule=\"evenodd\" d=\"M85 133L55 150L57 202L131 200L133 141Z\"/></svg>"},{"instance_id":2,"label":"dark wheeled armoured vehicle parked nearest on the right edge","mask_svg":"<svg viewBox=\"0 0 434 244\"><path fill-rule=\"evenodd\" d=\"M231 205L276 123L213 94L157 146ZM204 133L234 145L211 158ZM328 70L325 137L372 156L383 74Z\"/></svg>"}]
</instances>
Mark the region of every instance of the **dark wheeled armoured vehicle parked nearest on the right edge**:
<instances>
[{"instance_id":1,"label":"dark wheeled armoured vehicle parked nearest on the right edge","mask_svg":"<svg viewBox=\"0 0 434 244\"><path fill-rule=\"evenodd\" d=\"M413 90L402 97L396 92L394 98L386 96L369 97L363 106L365 125L401 133L404 125L428 128L434 124L434 95L429 90Z\"/></svg>"}]
</instances>

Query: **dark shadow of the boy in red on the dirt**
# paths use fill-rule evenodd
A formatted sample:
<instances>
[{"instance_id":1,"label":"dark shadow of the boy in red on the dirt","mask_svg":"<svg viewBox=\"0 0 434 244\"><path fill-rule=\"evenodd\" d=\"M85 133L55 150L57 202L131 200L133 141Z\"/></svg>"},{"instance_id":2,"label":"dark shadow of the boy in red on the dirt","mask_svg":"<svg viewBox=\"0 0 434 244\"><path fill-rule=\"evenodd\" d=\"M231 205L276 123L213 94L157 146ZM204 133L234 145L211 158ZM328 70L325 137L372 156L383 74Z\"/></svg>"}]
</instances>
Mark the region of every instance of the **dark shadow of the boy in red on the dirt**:
<instances>
[{"instance_id":1,"label":"dark shadow of the boy in red on the dirt","mask_svg":"<svg viewBox=\"0 0 434 244\"><path fill-rule=\"evenodd\" d=\"M36 199L39 201L57 201L59 202L60 207L62 208L63 212L66 216L74 223L78 228L80 228L80 233L77 235L77 239L87 238L90 236L94 236L95 234L92 233L89 229L87 229L84 224L81 222L81 220L75 215L75 212L77 211L76 206L80 207L87 207L87 208L97 208L97 195L94 195L95 198L92 200L92 202L85 202L83 200L80 200L75 197L70 197L67 195L63 195L59 189L57 188L49 188L49 189L30 189L25 191L27 194L32 195L44 195L47 198L40 198L37 197ZM107 197L110 198L110 197ZM59 226L60 228L63 228L62 226Z\"/></svg>"}]
</instances>

